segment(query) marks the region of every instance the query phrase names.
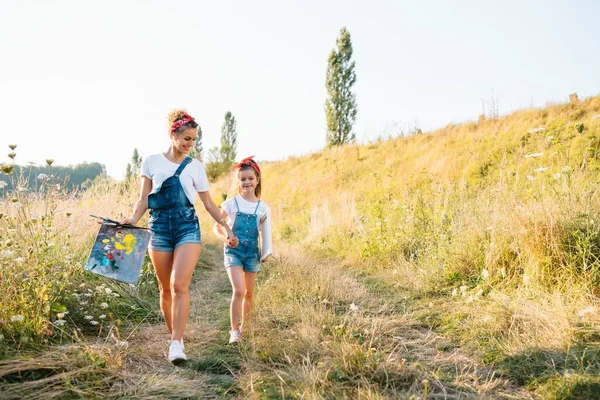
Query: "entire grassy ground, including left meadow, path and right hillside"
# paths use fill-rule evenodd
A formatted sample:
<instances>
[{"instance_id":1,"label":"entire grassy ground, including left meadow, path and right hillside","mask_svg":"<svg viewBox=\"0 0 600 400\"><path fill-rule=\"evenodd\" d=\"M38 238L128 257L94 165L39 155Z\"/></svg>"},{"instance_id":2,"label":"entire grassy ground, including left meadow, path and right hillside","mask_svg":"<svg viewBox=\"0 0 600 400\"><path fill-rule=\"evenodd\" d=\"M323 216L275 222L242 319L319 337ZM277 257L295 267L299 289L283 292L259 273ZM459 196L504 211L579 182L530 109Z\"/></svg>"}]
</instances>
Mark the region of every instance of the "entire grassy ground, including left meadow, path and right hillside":
<instances>
[{"instance_id":1,"label":"entire grassy ground, including left meadow, path and right hillside","mask_svg":"<svg viewBox=\"0 0 600 400\"><path fill-rule=\"evenodd\" d=\"M137 187L4 191L0 397L597 397L599 136L600 96L261 165L276 254L244 341L198 203L184 368L149 263L137 287L83 269L89 214Z\"/></svg>"}]
</instances>

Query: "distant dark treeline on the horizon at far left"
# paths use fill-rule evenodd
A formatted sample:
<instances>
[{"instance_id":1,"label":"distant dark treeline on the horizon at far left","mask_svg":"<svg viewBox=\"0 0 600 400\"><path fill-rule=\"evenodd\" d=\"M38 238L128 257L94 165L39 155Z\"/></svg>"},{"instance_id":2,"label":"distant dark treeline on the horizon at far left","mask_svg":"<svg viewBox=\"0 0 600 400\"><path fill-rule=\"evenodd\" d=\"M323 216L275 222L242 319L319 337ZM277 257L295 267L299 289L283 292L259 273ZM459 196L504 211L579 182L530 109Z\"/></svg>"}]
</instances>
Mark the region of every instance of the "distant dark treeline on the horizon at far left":
<instances>
[{"instance_id":1,"label":"distant dark treeline on the horizon at far left","mask_svg":"<svg viewBox=\"0 0 600 400\"><path fill-rule=\"evenodd\" d=\"M40 174L56 177L57 183L64 184L66 181L65 189L72 191L77 189L87 189L96 177L106 175L106 169L104 165L96 162L82 163L74 166L69 165L67 167L59 165L15 165L14 171L11 172L9 176L0 173L0 181L6 182L8 184L6 189L10 190L13 188L12 181L15 178L23 178L22 182L24 182L29 189L36 190L40 185L38 179Z\"/></svg>"}]
</instances>

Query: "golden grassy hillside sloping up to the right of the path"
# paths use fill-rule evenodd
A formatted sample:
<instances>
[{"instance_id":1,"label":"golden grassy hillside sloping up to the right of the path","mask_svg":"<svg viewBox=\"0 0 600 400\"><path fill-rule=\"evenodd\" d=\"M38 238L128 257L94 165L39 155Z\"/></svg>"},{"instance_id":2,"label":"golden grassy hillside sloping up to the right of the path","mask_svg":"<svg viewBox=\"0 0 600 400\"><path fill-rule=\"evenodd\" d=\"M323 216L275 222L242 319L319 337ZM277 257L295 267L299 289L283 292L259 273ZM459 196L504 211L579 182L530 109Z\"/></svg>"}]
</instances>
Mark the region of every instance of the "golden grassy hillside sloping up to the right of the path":
<instances>
[{"instance_id":1,"label":"golden grassy hillside sloping up to the right of the path","mask_svg":"<svg viewBox=\"0 0 600 400\"><path fill-rule=\"evenodd\" d=\"M266 164L263 197L281 243L340 258L520 385L577 397L600 390L599 136L600 96Z\"/></svg>"}]
</instances>

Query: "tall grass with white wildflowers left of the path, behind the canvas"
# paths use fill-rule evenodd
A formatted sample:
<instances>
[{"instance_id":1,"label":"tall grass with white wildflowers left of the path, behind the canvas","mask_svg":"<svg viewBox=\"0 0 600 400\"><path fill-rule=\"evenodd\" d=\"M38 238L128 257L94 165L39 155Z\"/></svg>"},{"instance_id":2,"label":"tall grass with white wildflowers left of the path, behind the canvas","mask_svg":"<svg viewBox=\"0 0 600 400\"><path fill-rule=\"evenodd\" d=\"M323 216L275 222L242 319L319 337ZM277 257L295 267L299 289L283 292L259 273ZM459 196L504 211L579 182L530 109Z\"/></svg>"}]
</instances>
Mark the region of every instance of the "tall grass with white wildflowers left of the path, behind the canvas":
<instances>
[{"instance_id":1,"label":"tall grass with white wildflowers left of the path, behind the canvas","mask_svg":"<svg viewBox=\"0 0 600 400\"><path fill-rule=\"evenodd\" d=\"M3 180L15 189L0 199L0 357L156 319L150 271L132 288L83 268L98 227L89 214L127 212L130 194L114 185L67 193L51 173L30 185L11 165Z\"/></svg>"}]
</instances>

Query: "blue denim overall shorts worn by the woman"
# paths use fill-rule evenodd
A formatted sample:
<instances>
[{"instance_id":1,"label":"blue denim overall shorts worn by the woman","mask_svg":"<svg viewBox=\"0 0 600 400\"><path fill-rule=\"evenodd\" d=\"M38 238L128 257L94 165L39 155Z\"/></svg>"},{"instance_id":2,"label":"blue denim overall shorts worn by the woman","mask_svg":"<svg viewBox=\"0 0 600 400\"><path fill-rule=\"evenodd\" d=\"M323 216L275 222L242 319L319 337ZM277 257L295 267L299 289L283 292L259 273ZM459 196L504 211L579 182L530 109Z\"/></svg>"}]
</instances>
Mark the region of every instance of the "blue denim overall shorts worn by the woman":
<instances>
[{"instance_id":1,"label":"blue denim overall shorts worn by the woman","mask_svg":"<svg viewBox=\"0 0 600 400\"><path fill-rule=\"evenodd\" d=\"M186 157L175 174L167 178L158 191L148 195L152 232L148 247L158 251L174 251L184 243L200 243L200 224L196 209L183 191L179 175L192 159Z\"/></svg>"}]
</instances>

